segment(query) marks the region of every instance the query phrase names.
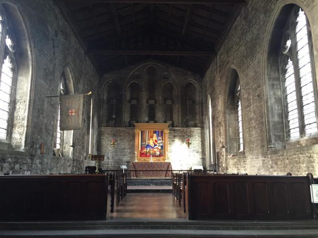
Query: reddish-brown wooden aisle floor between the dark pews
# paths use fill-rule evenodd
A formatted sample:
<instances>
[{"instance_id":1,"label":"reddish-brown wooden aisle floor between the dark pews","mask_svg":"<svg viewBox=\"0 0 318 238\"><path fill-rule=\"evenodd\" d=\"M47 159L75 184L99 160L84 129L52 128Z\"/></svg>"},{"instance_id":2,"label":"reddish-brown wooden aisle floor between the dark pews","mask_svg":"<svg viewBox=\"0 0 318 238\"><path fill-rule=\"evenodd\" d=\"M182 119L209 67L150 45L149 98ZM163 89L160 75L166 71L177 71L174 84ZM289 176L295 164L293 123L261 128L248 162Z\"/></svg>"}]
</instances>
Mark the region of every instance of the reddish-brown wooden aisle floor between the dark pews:
<instances>
[{"instance_id":1,"label":"reddish-brown wooden aisle floor between the dark pews","mask_svg":"<svg viewBox=\"0 0 318 238\"><path fill-rule=\"evenodd\" d=\"M111 213L110 219L186 219L183 207L178 206L171 193L128 193Z\"/></svg>"}]
</instances>

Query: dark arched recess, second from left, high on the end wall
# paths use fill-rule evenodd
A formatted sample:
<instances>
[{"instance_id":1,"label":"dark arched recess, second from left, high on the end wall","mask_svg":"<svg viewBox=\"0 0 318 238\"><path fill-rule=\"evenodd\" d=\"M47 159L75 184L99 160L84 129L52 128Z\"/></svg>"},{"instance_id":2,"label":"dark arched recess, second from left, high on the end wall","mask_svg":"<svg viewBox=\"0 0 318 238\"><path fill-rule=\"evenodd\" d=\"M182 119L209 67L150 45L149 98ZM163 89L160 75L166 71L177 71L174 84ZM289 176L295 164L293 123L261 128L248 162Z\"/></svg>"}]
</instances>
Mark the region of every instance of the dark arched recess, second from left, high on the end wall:
<instances>
[{"instance_id":1,"label":"dark arched recess, second from left, high on the end wall","mask_svg":"<svg viewBox=\"0 0 318 238\"><path fill-rule=\"evenodd\" d=\"M135 122L142 121L142 111L141 111L141 87L140 85L133 81L126 88L126 99L128 107L126 107L126 116L128 126L134 127Z\"/></svg>"}]
</instances>

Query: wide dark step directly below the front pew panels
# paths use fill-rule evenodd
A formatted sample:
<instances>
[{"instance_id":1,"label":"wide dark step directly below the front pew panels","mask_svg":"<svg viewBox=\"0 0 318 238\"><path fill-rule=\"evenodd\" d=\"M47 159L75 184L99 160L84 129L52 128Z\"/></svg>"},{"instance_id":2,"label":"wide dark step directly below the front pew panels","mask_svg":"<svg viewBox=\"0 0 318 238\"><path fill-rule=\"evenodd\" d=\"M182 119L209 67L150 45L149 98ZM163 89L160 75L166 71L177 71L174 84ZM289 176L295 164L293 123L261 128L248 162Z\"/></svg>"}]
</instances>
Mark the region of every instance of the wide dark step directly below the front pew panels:
<instances>
[{"instance_id":1,"label":"wide dark step directly below the front pew panels","mask_svg":"<svg viewBox=\"0 0 318 238\"><path fill-rule=\"evenodd\" d=\"M317 230L318 221L190 221L186 219L111 219L97 221L0 222L1 231L55 230Z\"/></svg>"}]
</instances>

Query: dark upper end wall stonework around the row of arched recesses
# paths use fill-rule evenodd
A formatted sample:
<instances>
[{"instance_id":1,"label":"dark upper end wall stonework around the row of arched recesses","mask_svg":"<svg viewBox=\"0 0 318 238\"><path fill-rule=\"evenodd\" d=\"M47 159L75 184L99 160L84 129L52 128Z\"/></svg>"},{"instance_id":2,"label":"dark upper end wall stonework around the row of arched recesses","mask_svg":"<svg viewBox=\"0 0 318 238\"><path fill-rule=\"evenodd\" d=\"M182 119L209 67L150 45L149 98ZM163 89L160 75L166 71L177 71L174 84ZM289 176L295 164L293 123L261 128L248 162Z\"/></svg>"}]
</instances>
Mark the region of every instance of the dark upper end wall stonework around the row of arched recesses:
<instances>
[{"instance_id":1,"label":"dark upper end wall stonework around the row of arched recesses","mask_svg":"<svg viewBox=\"0 0 318 238\"><path fill-rule=\"evenodd\" d=\"M156 73L156 80L147 77L147 69L148 68L155 68ZM191 83L191 85L194 85L193 93L191 96L195 98L194 104L192 105L193 108L193 124L190 124L192 127L201 127L202 126L202 78L200 75L192 73L190 71L174 67L172 65L162 63L159 61L154 60L148 60L141 63L137 63L135 65L127 66L125 68L122 68L120 70L108 72L102 76L101 79L101 86L100 88L100 104L101 104L101 113L100 113L100 126L106 127L110 126L112 121L107 121L109 118L109 115L107 114L107 104L109 103L109 99L107 99L106 95L106 87L109 83L114 82L116 85L118 85L119 91L118 94L120 95L120 101L122 102L121 107L118 107L116 110L117 119L116 123L117 126L122 127L128 127L128 126L134 126L133 123L130 122L130 104L132 104L130 101L130 88L129 85L131 83L138 84L137 87L140 87L140 93L139 93L139 100L138 101L138 108L139 114L138 114L138 121L135 122L149 122L148 117L148 110L150 103L148 102L150 99L150 95L148 93L148 83L151 80L151 82L155 85L155 104L154 107L156 107L156 119L155 122L168 122L166 120L166 117L164 116L164 85L166 83L171 83L173 85L173 98L172 98L172 105L173 105L173 127L184 127L185 126L185 117L186 117L186 111L187 106L185 104L184 99L184 91L185 91L185 85L187 83ZM151 98L154 99L154 98ZM189 100L190 101L190 100ZM113 107L113 106L110 106ZM190 106L189 106L190 111ZM119 113L120 112L120 113ZM191 113L189 113L190 115ZM105 119L106 118L106 119Z\"/></svg>"}]
</instances>

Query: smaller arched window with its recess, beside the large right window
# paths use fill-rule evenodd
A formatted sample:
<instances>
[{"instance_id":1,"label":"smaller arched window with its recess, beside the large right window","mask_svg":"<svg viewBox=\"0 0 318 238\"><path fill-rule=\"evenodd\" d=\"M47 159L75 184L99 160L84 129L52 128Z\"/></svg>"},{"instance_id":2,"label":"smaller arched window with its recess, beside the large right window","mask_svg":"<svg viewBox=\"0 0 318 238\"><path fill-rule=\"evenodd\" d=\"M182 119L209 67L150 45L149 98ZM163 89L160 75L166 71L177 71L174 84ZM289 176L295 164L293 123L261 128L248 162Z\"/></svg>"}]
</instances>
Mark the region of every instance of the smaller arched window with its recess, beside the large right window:
<instances>
[{"instance_id":1,"label":"smaller arched window with its recess, beside the large right window","mask_svg":"<svg viewBox=\"0 0 318 238\"><path fill-rule=\"evenodd\" d=\"M232 68L228 79L225 114L227 151L233 155L238 155L238 152L244 148L240 96L239 74L236 69Z\"/></svg>"}]
</instances>

